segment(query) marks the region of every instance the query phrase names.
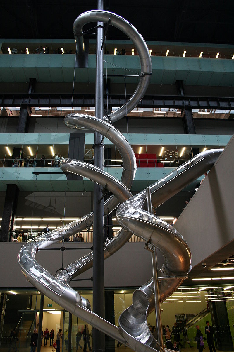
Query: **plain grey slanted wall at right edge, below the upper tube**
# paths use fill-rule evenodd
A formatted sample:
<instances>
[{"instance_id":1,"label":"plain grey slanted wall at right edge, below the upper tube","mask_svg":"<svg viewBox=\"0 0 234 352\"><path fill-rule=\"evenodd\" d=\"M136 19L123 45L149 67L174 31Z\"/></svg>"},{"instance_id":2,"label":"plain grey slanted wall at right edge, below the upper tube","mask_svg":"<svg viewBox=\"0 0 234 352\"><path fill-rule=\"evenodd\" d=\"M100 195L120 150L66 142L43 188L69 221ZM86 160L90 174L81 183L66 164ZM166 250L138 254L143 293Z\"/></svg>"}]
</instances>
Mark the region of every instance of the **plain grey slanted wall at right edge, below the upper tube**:
<instances>
[{"instance_id":1,"label":"plain grey slanted wall at right edge, below the upper tube","mask_svg":"<svg viewBox=\"0 0 234 352\"><path fill-rule=\"evenodd\" d=\"M192 252L191 274L203 273L234 253L233 155L234 136L175 223Z\"/></svg>"}]
</instances>

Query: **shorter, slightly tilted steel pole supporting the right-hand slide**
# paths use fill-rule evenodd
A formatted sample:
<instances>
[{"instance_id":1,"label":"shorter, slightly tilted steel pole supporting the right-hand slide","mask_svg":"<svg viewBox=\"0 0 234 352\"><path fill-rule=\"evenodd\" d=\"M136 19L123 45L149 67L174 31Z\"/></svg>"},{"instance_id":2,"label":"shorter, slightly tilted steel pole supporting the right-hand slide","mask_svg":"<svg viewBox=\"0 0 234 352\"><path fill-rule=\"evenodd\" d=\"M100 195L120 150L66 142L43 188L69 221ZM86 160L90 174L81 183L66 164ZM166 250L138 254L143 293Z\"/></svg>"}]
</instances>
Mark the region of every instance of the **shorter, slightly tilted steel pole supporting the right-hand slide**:
<instances>
[{"instance_id":1,"label":"shorter, slightly tilted steel pole supporting the right-hand slide","mask_svg":"<svg viewBox=\"0 0 234 352\"><path fill-rule=\"evenodd\" d=\"M148 212L152 214L151 189L149 187L146 188L146 199L147 199ZM152 270L153 270L155 316L156 316L156 323L157 323L158 342L163 349L163 333L162 333L161 304L160 304L160 293L159 293L159 283L158 283L157 254L156 254L156 248L153 248L153 249L154 249L154 252L151 252L151 260L152 260Z\"/></svg>"}]
</instances>

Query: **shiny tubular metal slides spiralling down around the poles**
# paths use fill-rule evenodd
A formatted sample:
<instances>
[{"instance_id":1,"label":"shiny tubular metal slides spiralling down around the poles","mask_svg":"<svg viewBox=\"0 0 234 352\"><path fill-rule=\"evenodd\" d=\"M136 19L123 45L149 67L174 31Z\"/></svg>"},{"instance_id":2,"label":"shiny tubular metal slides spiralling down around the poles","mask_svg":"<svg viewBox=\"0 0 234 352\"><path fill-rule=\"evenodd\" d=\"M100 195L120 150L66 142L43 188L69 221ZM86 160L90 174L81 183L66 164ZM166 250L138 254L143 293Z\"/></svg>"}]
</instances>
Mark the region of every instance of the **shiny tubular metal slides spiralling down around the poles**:
<instances>
[{"instance_id":1,"label":"shiny tubular metal slides spiralling down around the poles","mask_svg":"<svg viewBox=\"0 0 234 352\"><path fill-rule=\"evenodd\" d=\"M133 96L125 106L109 115L112 122L122 118L132 110L145 94L151 73L151 58L149 51L138 31L120 16L105 11L89 11L81 14L74 22L74 34L82 32L84 24L91 21L103 21L120 28L136 45L140 61L142 75ZM79 37L78 49L82 48L82 36ZM160 300L163 302L182 283L181 277L187 275L190 270L190 251L181 234L171 225L148 213L146 207L146 190L136 196L132 196L129 188L132 185L136 172L136 159L134 152L125 137L108 122L107 117L99 120L89 115L69 114L65 118L65 124L70 128L88 128L101 133L108 138L120 151L123 161L121 180L108 174L94 165L74 159L64 159L60 168L66 172L81 175L93 182L99 183L108 189L112 196L104 205L105 214L107 208L112 212L119 204L116 219L122 226L118 234L106 244L104 251L105 259L118 251L131 237L132 233L150 240L153 247L159 249L165 262L161 268L162 275L174 276L170 280L161 280L159 283ZM154 207L172 197L183 189L187 184L196 180L197 177L208 171L222 150L209 150L196 155L179 168L170 172L163 179L155 182L151 188L152 204ZM48 247L63 237L67 238L87 228L92 222L93 213L73 221L47 234L41 235L35 240L29 240L24 244L18 254L18 261L22 273L40 292L58 303L68 312L78 316L82 320L101 330L112 338L128 344L135 351L157 350L157 343L150 333L147 325L147 316L154 309L153 281L149 280L133 294L133 304L127 308L119 318L120 328L114 326L91 311L90 303L77 291L69 286L70 280L92 267L93 253L89 253L62 270L57 277L47 272L36 260L38 250Z\"/></svg>"}]
</instances>

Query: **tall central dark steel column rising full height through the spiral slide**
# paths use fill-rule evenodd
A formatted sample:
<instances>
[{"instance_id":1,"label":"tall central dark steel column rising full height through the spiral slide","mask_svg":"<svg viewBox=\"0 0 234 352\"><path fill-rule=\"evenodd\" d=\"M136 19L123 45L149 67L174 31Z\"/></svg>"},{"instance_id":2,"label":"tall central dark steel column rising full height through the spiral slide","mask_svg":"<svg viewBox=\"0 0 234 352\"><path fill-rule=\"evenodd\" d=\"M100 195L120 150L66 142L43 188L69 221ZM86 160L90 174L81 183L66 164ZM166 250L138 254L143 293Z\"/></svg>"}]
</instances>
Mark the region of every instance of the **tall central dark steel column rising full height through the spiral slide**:
<instances>
[{"instance_id":1,"label":"tall central dark steel column rising full height through the spiral slide","mask_svg":"<svg viewBox=\"0 0 234 352\"><path fill-rule=\"evenodd\" d=\"M98 10L103 10L103 0L98 0ZM95 83L95 116L103 119L103 23L97 23L96 40L96 83ZM103 169L102 135L94 133L94 165ZM104 220L102 188L94 183L93 191L93 312L105 317L104 297ZM93 328L93 351L105 351L105 334Z\"/></svg>"}]
</instances>

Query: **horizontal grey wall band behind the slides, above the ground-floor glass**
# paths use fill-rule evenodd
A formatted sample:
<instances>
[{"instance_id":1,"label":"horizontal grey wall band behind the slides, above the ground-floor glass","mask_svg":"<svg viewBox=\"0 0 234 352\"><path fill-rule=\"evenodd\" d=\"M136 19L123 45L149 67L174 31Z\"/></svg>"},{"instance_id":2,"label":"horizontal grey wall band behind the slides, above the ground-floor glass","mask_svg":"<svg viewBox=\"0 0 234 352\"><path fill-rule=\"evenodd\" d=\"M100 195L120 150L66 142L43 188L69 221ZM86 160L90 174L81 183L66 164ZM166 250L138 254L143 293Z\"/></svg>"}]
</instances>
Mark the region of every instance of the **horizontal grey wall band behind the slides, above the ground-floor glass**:
<instances>
[{"instance_id":1,"label":"horizontal grey wall band behind the slides, above the ground-floor glass","mask_svg":"<svg viewBox=\"0 0 234 352\"><path fill-rule=\"evenodd\" d=\"M88 243L66 243L66 247L76 247L77 250L63 252L64 266L77 260L91 250L81 250L78 247L87 247ZM105 261L105 286L106 287L140 287L152 277L151 253L144 250L144 243L127 243L112 257ZM53 247L61 247L61 244ZM31 288L32 285L26 280L20 271L17 254L20 243L1 243L0 246L0 288ZM160 257L160 255L159 255ZM61 267L61 251L41 251L36 255L36 260L51 274ZM160 265L162 258L159 259ZM92 269L81 274L79 278L92 277ZM91 281L72 282L73 287L90 288Z\"/></svg>"}]
</instances>

